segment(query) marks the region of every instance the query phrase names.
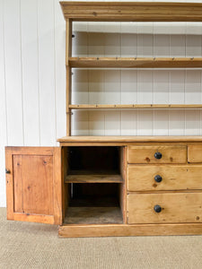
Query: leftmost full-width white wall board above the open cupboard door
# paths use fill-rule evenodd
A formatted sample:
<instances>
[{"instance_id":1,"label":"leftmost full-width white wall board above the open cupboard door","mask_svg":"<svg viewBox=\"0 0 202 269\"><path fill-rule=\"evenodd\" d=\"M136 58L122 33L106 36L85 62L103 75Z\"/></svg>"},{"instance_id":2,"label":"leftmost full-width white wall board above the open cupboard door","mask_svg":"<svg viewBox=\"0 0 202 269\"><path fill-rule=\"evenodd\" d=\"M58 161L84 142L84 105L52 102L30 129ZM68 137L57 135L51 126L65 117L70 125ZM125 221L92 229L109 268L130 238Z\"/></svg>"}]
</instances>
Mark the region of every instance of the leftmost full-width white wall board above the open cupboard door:
<instances>
[{"instance_id":1,"label":"leftmost full-width white wall board above the open cupboard door","mask_svg":"<svg viewBox=\"0 0 202 269\"><path fill-rule=\"evenodd\" d=\"M20 1L4 1L4 73L8 144L23 145Z\"/></svg>"}]
</instances>

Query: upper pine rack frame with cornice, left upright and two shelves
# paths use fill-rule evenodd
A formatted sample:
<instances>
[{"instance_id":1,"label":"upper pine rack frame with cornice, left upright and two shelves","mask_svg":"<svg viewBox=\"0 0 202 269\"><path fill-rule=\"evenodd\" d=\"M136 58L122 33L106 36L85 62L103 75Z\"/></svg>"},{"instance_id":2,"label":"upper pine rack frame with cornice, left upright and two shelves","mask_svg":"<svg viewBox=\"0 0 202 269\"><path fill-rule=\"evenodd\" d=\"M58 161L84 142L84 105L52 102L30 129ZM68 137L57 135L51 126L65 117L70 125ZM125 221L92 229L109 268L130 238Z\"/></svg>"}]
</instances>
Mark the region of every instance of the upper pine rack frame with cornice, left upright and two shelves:
<instances>
[{"instance_id":1,"label":"upper pine rack frame with cornice, left upright and two shelves","mask_svg":"<svg viewBox=\"0 0 202 269\"><path fill-rule=\"evenodd\" d=\"M72 56L73 22L202 22L202 3L60 2L66 20L66 135L73 109L200 109L202 104L72 104L72 68L202 68L202 57ZM134 101L135 102L135 101ZM159 139L159 137L158 137ZM59 142L62 142L58 140ZM181 138L179 139L181 141Z\"/></svg>"}]
</instances>

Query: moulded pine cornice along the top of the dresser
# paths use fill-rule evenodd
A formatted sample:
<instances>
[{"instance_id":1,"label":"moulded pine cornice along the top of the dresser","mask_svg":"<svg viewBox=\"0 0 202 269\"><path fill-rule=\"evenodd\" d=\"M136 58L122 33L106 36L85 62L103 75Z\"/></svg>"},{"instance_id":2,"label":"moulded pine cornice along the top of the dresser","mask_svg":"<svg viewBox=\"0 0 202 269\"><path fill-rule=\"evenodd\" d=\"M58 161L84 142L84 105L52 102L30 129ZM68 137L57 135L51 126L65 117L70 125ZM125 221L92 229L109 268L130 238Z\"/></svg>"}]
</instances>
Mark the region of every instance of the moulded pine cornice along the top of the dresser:
<instances>
[{"instance_id":1,"label":"moulded pine cornice along the top of the dresser","mask_svg":"<svg viewBox=\"0 0 202 269\"><path fill-rule=\"evenodd\" d=\"M202 22L201 3L60 2L65 20L100 22Z\"/></svg>"}]
</instances>

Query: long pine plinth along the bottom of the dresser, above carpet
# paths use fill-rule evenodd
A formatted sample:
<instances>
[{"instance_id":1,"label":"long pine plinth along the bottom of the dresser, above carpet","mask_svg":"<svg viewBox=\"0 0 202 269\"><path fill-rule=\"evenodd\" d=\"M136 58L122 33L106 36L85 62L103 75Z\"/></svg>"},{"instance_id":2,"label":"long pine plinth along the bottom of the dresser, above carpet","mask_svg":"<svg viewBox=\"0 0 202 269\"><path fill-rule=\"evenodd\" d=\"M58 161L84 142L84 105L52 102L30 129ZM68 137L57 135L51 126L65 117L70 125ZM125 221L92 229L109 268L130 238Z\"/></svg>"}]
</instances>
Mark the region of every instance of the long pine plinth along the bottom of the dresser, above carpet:
<instances>
[{"instance_id":1,"label":"long pine plinth along the bottom of the dresser, above carpet","mask_svg":"<svg viewBox=\"0 0 202 269\"><path fill-rule=\"evenodd\" d=\"M201 235L202 223L62 225L59 238L130 237L156 235Z\"/></svg>"}]
</instances>

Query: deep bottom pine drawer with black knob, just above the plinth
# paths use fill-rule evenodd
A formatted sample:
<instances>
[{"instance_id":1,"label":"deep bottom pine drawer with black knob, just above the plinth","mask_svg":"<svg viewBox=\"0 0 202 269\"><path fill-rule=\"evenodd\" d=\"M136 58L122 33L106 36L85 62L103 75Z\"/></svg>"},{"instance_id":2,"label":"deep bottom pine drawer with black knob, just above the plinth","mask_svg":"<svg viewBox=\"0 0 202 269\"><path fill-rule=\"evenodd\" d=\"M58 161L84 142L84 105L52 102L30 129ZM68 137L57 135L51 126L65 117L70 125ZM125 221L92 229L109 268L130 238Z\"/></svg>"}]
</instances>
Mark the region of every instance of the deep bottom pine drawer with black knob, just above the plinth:
<instances>
[{"instance_id":1,"label":"deep bottom pine drawer with black knob, just above the plinth","mask_svg":"<svg viewBox=\"0 0 202 269\"><path fill-rule=\"evenodd\" d=\"M129 224L201 222L202 193L129 194L127 217Z\"/></svg>"}]
</instances>

